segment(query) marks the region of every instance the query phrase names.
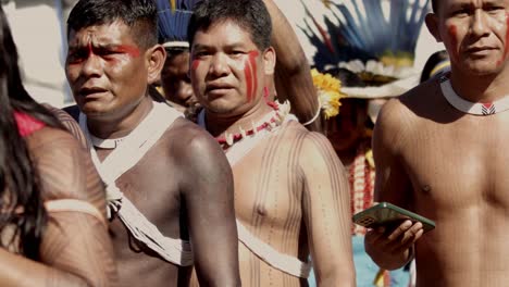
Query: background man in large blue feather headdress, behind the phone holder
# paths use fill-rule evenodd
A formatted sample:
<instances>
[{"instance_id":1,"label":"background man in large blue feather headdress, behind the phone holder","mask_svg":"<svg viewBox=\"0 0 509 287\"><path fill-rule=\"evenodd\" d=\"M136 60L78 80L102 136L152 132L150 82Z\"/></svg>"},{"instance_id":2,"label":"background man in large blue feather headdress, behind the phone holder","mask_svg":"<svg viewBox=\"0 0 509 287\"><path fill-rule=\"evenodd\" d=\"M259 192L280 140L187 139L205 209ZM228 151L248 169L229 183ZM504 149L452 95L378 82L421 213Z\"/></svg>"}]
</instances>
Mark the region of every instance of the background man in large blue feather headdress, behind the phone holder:
<instances>
[{"instance_id":1,"label":"background man in large blue feather headdress, behind the phone holder","mask_svg":"<svg viewBox=\"0 0 509 287\"><path fill-rule=\"evenodd\" d=\"M326 129L347 166L355 214L374 203L371 135L377 112L388 98L419 84L420 73L413 67L413 60L429 1L322 2L323 21L315 9L309 8L302 30L316 47L315 67L342 80L339 114L326 122ZM357 286L408 286L407 270L387 272L369 258L363 242L365 233L362 226L352 226Z\"/></svg>"}]
</instances>

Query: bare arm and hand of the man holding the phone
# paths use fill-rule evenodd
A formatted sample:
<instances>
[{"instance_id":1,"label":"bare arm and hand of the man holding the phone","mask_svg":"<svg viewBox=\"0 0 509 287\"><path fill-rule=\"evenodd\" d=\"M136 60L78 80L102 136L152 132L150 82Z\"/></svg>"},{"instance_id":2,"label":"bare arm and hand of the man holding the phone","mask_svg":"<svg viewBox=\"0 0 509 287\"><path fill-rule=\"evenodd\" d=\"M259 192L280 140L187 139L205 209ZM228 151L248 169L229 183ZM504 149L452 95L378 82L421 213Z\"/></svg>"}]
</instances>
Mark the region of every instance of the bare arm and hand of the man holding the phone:
<instances>
[{"instance_id":1,"label":"bare arm and hand of the man holding the phone","mask_svg":"<svg viewBox=\"0 0 509 287\"><path fill-rule=\"evenodd\" d=\"M373 135L373 155L376 163L375 201L387 201L409 209L411 184L402 163L400 147L404 144L400 103L393 100L384 105L376 120ZM365 236L365 250L373 261L386 270L405 265L413 244L422 235L422 224L404 222L393 230L378 228Z\"/></svg>"}]
</instances>

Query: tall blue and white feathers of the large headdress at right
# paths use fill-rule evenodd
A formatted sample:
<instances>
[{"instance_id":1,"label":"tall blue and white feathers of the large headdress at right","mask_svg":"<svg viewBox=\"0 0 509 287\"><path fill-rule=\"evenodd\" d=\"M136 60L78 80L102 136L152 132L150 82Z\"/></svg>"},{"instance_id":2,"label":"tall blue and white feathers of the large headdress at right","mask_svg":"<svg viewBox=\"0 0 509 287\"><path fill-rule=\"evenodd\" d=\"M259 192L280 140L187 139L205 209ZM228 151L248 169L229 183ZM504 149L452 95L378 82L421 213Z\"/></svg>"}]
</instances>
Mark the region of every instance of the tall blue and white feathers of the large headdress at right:
<instances>
[{"instance_id":1,"label":"tall blue and white feathers of the large headdress at right","mask_svg":"<svg viewBox=\"0 0 509 287\"><path fill-rule=\"evenodd\" d=\"M348 1L349 5L346 4ZM327 65L337 63L318 63L316 60L350 61L359 59L380 59L386 53L414 57L414 50L420 29L429 12L430 0L389 0L389 14L385 16L384 0L335 0L330 4L331 15L324 15L324 23L332 39L336 57L315 55L315 64ZM306 7L305 0L301 0ZM334 9L333 9L334 8ZM363 8L363 9L362 9ZM310 16L310 13L308 13ZM335 20L334 21L330 21ZM338 23L338 24L337 24ZM308 27L309 28L309 27ZM301 27L301 29L305 29ZM309 37L309 33L307 34ZM314 35L313 43L319 35ZM357 53L342 52L348 51ZM325 49L318 48L318 53ZM360 52L362 51L362 52Z\"/></svg>"}]
</instances>

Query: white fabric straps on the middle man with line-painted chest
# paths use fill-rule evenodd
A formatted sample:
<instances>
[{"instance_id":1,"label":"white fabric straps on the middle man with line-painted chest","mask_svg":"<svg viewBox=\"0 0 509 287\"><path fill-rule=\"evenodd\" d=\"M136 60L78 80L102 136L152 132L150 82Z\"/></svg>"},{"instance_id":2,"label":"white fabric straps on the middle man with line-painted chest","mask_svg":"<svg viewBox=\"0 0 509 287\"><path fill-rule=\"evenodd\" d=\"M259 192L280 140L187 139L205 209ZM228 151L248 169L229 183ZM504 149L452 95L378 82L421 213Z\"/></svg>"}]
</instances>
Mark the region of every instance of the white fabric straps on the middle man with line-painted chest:
<instances>
[{"instance_id":1,"label":"white fabric straps on the middle man with line-painted chest","mask_svg":"<svg viewBox=\"0 0 509 287\"><path fill-rule=\"evenodd\" d=\"M269 114L268 117L270 118L271 114ZM264 117L261 122L265 120L268 118ZM289 121L298 122L298 118L297 116L293 114L288 114L284 118L282 125ZM207 129L207 125L204 121L204 110L202 110L198 114L198 125ZM244 157L246 157L253 148L256 148L258 144L262 141L262 139L265 139L266 137L272 135L274 132L277 132L277 129L280 129L282 125L276 126L270 130L269 129L260 130L252 136L245 137L241 140L235 142L235 145L233 145L226 151L226 158L229 162L229 165L234 167L234 165L238 163L238 161L240 161ZM280 251L275 250L272 246L258 239L238 220L237 220L237 234L238 234L238 240L244 246L246 246L246 248L249 249L253 254L256 254L258 258L260 258L262 261L264 261L269 265L286 274L296 276L296 277L301 277L301 278L309 277L309 273L312 266L310 262L302 262L298 260L297 258L281 253Z\"/></svg>"}]
</instances>

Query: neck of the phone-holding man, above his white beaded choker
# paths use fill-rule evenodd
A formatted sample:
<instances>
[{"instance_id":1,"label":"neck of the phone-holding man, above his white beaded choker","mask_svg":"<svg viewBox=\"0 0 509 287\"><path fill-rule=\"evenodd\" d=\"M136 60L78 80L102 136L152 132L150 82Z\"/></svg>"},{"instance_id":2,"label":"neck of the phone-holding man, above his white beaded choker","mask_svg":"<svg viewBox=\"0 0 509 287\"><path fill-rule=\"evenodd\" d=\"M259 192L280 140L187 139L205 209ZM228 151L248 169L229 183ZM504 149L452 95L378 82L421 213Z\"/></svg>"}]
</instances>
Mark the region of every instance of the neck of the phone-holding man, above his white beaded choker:
<instances>
[{"instance_id":1,"label":"neck of the phone-holding man, above his white beaded choker","mask_svg":"<svg viewBox=\"0 0 509 287\"><path fill-rule=\"evenodd\" d=\"M492 75L467 75L452 70L450 83L455 91L470 102L494 102L509 96L509 68Z\"/></svg>"}]
</instances>

